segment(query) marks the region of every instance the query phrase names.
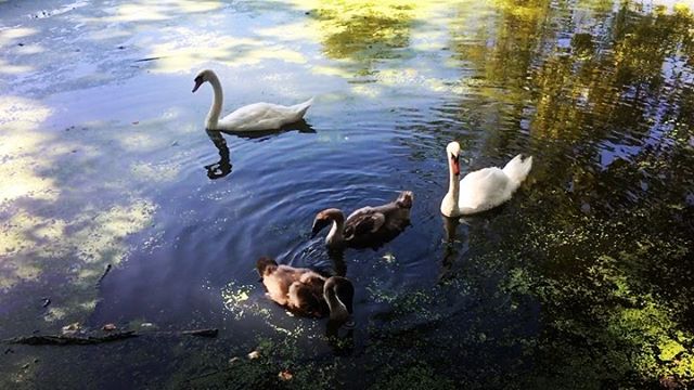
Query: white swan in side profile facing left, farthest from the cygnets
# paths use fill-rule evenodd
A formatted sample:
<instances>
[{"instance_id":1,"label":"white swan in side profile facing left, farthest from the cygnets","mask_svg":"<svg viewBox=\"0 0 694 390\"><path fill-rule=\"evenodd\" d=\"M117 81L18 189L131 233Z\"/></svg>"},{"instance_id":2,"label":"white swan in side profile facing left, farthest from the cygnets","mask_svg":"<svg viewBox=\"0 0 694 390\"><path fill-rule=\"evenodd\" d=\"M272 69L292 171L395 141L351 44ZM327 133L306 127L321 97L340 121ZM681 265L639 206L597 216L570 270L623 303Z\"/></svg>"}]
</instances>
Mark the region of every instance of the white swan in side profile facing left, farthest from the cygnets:
<instances>
[{"instance_id":1,"label":"white swan in side profile facing left, farthest from the cygnets","mask_svg":"<svg viewBox=\"0 0 694 390\"><path fill-rule=\"evenodd\" d=\"M243 106L235 112L219 119L221 106L223 103L223 94L221 92L221 83L217 75L209 69L205 69L195 77L195 87L193 92L197 91L200 86L209 82L215 91L213 105L209 107L205 128L208 130L230 130L230 131L260 131L277 130L287 123L300 120L306 114L308 107L313 103L313 99L309 99L304 103L293 106L283 106L271 103L254 103Z\"/></svg>"}]
</instances>

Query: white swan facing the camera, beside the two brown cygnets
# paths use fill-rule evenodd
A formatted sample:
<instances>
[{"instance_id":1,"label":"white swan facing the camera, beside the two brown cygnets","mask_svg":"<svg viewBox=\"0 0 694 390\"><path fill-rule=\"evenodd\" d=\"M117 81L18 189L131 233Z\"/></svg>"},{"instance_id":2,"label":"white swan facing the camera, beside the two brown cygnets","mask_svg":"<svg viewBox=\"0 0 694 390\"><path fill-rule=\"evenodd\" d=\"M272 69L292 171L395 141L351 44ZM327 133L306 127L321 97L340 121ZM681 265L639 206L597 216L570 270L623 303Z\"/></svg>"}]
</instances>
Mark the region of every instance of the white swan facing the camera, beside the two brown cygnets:
<instances>
[{"instance_id":1,"label":"white swan facing the camera, beside the two brown cygnets","mask_svg":"<svg viewBox=\"0 0 694 390\"><path fill-rule=\"evenodd\" d=\"M524 160L517 155L503 169L484 168L459 181L460 144L449 143L446 155L450 169L448 194L441 202L441 213L446 217L486 211L509 200L532 167L532 156Z\"/></svg>"}]
</instances>

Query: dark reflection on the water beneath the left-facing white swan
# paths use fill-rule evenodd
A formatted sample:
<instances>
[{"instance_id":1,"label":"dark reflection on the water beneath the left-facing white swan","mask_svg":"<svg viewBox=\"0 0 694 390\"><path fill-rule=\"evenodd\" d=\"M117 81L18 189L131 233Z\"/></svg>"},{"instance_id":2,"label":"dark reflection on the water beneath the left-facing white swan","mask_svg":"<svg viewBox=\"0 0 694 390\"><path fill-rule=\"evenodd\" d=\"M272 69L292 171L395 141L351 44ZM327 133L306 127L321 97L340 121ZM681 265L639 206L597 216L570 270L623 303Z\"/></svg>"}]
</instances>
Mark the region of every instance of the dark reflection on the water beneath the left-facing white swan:
<instances>
[{"instance_id":1,"label":"dark reflection on the water beneath the left-facing white swan","mask_svg":"<svg viewBox=\"0 0 694 390\"><path fill-rule=\"evenodd\" d=\"M209 130L206 129L205 132L207 136L213 142L217 151L219 152L219 161L215 164L209 164L204 166L207 170L207 177L211 180L221 179L231 173L233 165L231 164L229 146L227 145L227 140L222 135L222 133L229 135L235 135L239 138L244 138L248 140L256 141L265 141L273 135L287 132L287 131L298 131L300 133L316 133L316 130L306 122L306 120L301 119L297 122L286 125L282 127L280 130L268 130L268 131L222 131L222 130Z\"/></svg>"}]
</instances>

